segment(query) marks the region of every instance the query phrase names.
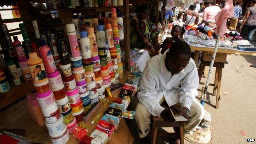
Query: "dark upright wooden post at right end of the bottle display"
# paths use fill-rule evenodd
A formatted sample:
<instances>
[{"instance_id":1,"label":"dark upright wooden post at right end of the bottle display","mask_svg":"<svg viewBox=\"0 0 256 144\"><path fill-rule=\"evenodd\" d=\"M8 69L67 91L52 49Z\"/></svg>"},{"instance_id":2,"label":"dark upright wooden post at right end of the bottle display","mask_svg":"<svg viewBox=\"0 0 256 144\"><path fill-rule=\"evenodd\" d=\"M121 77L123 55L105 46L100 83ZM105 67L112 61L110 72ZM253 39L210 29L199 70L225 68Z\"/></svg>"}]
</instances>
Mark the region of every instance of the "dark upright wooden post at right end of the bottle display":
<instances>
[{"instance_id":1,"label":"dark upright wooden post at right end of the bottle display","mask_svg":"<svg viewBox=\"0 0 256 144\"><path fill-rule=\"evenodd\" d=\"M126 71L130 71L130 17L129 17L129 0L124 0L124 48L125 48L125 67Z\"/></svg>"}]
</instances>

